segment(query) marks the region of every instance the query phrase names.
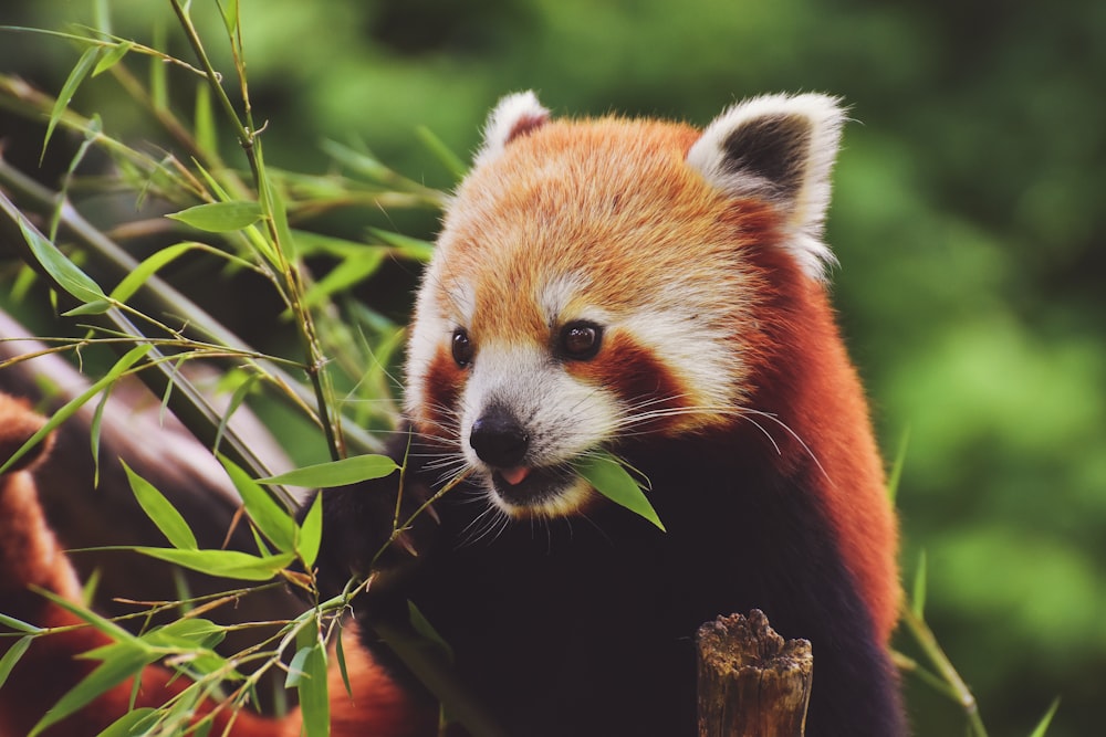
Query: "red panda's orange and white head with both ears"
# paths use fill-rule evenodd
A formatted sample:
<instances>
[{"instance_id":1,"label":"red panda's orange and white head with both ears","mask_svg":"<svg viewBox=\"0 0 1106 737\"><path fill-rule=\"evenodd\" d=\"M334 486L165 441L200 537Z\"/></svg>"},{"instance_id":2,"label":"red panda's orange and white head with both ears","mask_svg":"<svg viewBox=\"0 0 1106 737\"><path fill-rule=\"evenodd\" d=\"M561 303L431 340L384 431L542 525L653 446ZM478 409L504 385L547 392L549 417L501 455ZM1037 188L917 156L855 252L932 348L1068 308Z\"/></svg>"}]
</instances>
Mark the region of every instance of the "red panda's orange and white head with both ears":
<instances>
[{"instance_id":1,"label":"red panda's orange and white head with both ears","mask_svg":"<svg viewBox=\"0 0 1106 737\"><path fill-rule=\"evenodd\" d=\"M744 102L702 131L504 98L424 276L415 429L509 515L560 516L594 498L582 454L737 422L773 288L751 254L822 278L842 118L821 95Z\"/></svg>"}]
</instances>

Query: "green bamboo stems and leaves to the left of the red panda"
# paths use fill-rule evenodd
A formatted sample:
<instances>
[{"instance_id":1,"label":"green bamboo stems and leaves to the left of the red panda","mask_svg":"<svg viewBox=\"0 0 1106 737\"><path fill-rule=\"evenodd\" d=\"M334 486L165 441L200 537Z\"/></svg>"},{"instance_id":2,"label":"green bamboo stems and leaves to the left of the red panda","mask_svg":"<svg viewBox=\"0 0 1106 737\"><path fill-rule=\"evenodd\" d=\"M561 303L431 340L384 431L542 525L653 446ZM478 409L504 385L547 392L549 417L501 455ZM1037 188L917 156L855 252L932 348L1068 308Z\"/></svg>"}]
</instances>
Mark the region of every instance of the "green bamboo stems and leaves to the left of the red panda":
<instances>
[{"instance_id":1,"label":"green bamboo stems and leaves to the left of the red panda","mask_svg":"<svg viewBox=\"0 0 1106 737\"><path fill-rule=\"evenodd\" d=\"M137 709L121 718L107 734L132 734L136 728L144 733L180 734L189 728L191 715L205 698L221 689L227 696L218 709L241 708L254 697L260 678L269 671L283 667L282 662L288 661L285 686L298 692L305 734L325 735L330 720L327 649L341 629L341 614L358 589L351 581L346 593L330 601L320 600L313 565L323 534L321 497L315 498L302 523L299 523L290 505L282 503L284 492L279 484L347 484L385 477L400 470L390 459L364 453L375 443L361 431L361 422L344 422L343 409L343 402L387 399L382 391L387 389L386 385L379 378L372 379L379 371L386 375L387 368L374 369L366 375L366 367L373 365L374 356L385 359L392 356L396 344L395 331L385 320L374 318L376 324L368 325L363 310L356 313L357 317L349 317L344 314L340 301L345 301L351 289L372 278L385 264L386 257L425 261L429 246L417 239L392 235L380 229L374 229L372 234L377 245L365 246L347 239L293 229L290 218L299 217L296 210L307 201L315 211L349 207L351 202L363 207L380 201L388 201L395 207L432 208L441 197L431 189L399 177L383 165L368 167L367 156L362 156L358 164L371 180L367 185L342 175L307 178L270 169L258 137L260 128L252 122L250 106L241 104L241 101L236 105L228 96L223 86L225 75L216 71L208 56L201 34L192 24L190 10L176 0L170 0L169 6L197 59L196 66L154 46L113 35L107 31L104 12L101 13L98 30L40 33L84 49L56 99L51 101L48 96L24 99L30 109L46 115L44 152L58 145L58 131L76 131L83 136L84 143L69 165L66 188L71 182L80 181L82 162L86 160L86 154L95 148L98 154L106 154L117 167L118 180L112 186L134 192L139 207L150 201L169 203L170 214L161 221L166 223L163 230L173 232L186 228L194 240L170 241L143 261L135 262L111 236L67 206L65 198L71 190L63 191L55 201L36 186L27 183L10 166L0 162L3 181L15 183L13 194L0 192L0 207L22 235L25 244L22 257L38 270L42 285L52 292L53 298L65 306L65 316L80 316L87 320L80 337L59 337L49 350L67 350L80 356L86 349L113 347L122 352L122 357L109 362L86 391L56 411L43 430L8 463L41 442L94 397L101 396L92 422L92 449L98 464L104 399L122 377L136 376L161 393L169 409L194 433L208 439L213 446L222 448L223 454L219 455L219 460L241 497L243 519L253 531L257 550L201 547L188 522L167 497L124 465L136 501L171 547L136 545L117 549L208 576L247 581L248 587L199 599L181 594L179 601L152 604L140 614L152 618L160 611L179 609L184 615L164 627L147 624L138 634L129 633L115 621L95 614L83 604L43 592L58 606L104 633L111 643L82 655L98 661L98 664L62 697L35 726L33 734L49 728L105 689L156 662L187 676L185 683L188 685L161 707ZM106 6L103 8L106 9ZM232 51L230 69L243 98L248 99L238 6L223 4L223 10L226 41ZM38 33L28 29L14 31L20 34ZM154 45L161 48L164 42ZM153 62L148 92L132 76L131 66L136 57ZM165 73L166 62L186 70L190 78L185 87L197 91L195 130L181 123L171 109L170 91L180 81ZM169 154L154 159L104 134L105 126L98 116L83 118L73 113L71 102L74 96L85 85L100 84L96 77L101 75L112 77L138 102L148 103L155 119L176 137L176 146L182 155ZM12 87L6 90L11 92ZM0 98L3 98L3 93L0 93ZM219 127L215 120L216 110L223 114L223 125L229 125L242 147L247 165L244 171L226 165L216 148ZM111 120L107 123L109 126ZM345 149L335 151L345 154ZM182 164L185 160L191 164L186 166ZM36 209L51 217L49 235L32 222L31 213ZM61 232L75 233L75 241L61 241L58 236ZM300 238L305 244L302 251L295 243ZM340 277L331 277L328 282L313 281L303 257L304 254L319 253L338 255L343 260L345 270L342 264L334 270L341 274ZM191 256L263 276L286 308L286 318L300 339L301 358L296 360L254 350L161 281L160 273ZM93 278L79 264L88 265L90 271L101 276ZM352 267L354 264L356 269ZM98 283L105 269L114 269L117 278L109 293ZM361 329L352 334L347 325L356 325ZM215 412L204 394L180 371L182 364L197 360L211 364L226 377L222 385L232 391L226 414ZM286 367L298 369L305 381L291 376ZM345 392L341 401L338 385ZM275 396L315 425L324 438L330 462L309 464L279 476L268 472L228 423L236 409L251 396L262 392L268 394L267 401L272 401ZM384 412L388 419L394 418L387 406ZM359 452L347 457L351 450ZM255 478L272 485L273 492L267 491ZM415 514L424 510L425 506ZM405 523L410 524L413 519L414 516ZM397 519L389 544L401 534L398 523ZM382 548L382 554L384 549L386 546ZM196 615L197 611L234 601L253 588L271 586L268 582L276 578L304 589L312 601L294 620L244 622L228 628ZM49 634L51 630L2 614L0 621L22 633L0 659L2 682L33 640ZM275 634L272 633L274 627ZM230 629L250 628L267 629L269 634L259 634L255 644L230 656L213 650ZM240 670L244 665L250 668ZM201 731L210 727L210 718L205 722L206 726L198 725Z\"/></svg>"}]
</instances>

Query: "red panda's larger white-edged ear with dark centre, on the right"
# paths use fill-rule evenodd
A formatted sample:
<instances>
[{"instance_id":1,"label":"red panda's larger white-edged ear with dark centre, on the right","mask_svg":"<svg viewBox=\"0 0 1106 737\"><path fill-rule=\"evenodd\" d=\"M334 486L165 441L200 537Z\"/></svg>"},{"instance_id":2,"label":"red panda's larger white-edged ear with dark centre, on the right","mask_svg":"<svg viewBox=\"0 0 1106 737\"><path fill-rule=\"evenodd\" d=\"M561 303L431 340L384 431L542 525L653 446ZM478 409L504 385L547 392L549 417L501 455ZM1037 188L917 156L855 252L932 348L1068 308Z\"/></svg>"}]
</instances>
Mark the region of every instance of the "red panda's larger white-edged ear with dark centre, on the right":
<instances>
[{"instance_id":1,"label":"red panda's larger white-edged ear with dark centre, on the right","mask_svg":"<svg viewBox=\"0 0 1106 737\"><path fill-rule=\"evenodd\" d=\"M822 223L844 119L835 97L755 97L714 118L687 160L731 197L774 202L791 231L786 248L807 274L822 278L834 261L822 242Z\"/></svg>"}]
</instances>

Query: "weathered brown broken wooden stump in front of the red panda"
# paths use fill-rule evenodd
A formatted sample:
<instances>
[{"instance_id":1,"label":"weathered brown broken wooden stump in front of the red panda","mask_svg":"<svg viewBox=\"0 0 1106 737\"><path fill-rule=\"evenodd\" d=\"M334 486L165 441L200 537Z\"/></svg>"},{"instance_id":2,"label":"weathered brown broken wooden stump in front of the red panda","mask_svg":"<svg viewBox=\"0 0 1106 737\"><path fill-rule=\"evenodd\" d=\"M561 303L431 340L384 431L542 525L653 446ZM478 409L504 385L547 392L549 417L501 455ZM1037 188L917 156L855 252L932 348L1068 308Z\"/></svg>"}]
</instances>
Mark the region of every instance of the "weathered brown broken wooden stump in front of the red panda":
<instances>
[{"instance_id":1,"label":"weathered brown broken wooden stump in front of the red panda","mask_svg":"<svg viewBox=\"0 0 1106 737\"><path fill-rule=\"evenodd\" d=\"M814 659L754 609L707 622L698 645L699 737L802 737Z\"/></svg>"}]
</instances>

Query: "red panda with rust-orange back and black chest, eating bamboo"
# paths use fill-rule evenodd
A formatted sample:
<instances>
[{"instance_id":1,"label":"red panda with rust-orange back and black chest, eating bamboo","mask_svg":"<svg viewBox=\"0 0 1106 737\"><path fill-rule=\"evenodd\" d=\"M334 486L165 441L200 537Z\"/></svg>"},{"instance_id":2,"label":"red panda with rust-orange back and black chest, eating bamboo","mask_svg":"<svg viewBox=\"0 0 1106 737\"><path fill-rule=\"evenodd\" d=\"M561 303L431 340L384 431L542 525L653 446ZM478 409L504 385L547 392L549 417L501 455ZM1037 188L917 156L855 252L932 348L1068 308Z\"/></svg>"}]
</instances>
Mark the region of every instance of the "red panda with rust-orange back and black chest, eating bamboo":
<instances>
[{"instance_id":1,"label":"red panda with rust-orange back and black chest, eating bamboo","mask_svg":"<svg viewBox=\"0 0 1106 737\"><path fill-rule=\"evenodd\" d=\"M396 716L436 709L376 635L408 602L503 734L693 734L691 635L752 608L813 644L807 735L906 733L896 524L825 283L843 119L811 94L703 130L555 120L531 93L492 112L419 289L395 443L403 505L467 477L355 600L393 701L373 716L355 684L332 734L432 734ZM667 531L583 480L597 452L648 478ZM325 586L368 572L396 494L322 492Z\"/></svg>"}]
</instances>

